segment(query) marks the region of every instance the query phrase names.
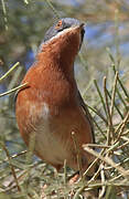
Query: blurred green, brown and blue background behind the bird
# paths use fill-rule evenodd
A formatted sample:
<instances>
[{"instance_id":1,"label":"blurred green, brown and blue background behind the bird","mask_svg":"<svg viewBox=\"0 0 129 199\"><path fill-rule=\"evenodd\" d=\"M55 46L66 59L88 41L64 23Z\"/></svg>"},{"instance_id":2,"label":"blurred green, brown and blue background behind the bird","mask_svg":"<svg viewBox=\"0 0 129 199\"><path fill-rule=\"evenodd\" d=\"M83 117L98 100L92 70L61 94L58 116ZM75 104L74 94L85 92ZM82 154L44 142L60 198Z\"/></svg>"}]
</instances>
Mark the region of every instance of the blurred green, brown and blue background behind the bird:
<instances>
[{"instance_id":1,"label":"blurred green, brown and blue background behind the bird","mask_svg":"<svg viewBox=\"0 0 129 199\"><path fill-rule=\"evenodd\" d=\"M0 1L0 76L20 62L1 82L0 93L20 84L34 62L45 31L58 17L86 23L84 44L75 62L77 84L86 102L99 107L94 80L103 91L106 75L107 86L111 88L114 73L109 54L129 90L129 0L53 0L52 3L49 0ZM117 103L119 105L119 101ZM14 93L0 97L0 138L10 154L25 149L15 123ZM2 151L0 155L6 157Z\"/></svg>"}]
</instances>

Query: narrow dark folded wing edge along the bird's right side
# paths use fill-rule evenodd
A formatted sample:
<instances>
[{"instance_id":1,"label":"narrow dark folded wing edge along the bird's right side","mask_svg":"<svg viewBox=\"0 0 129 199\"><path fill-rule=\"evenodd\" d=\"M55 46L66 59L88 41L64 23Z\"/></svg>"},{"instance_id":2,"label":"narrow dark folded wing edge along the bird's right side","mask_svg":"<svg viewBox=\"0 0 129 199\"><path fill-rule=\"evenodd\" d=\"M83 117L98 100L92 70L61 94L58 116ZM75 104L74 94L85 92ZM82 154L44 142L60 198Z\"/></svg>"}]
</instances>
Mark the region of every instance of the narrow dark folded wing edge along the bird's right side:
<instances>
[{"instance_id":1,"label":"narrow dark folded wing edge along the bird's right side","mask_svg":"<svg viewBox=\"0 0 129 199\"><path fill-rule=\"evenodd\" d=\"M79 91L78 91L78 98L79 98L79 103L80 103L80 106L85 113L85 117L86 119L88 119L89 124L90 124L90 127L92 127L92 134L93 134L93 142L95 143L95 135L94 135L94 123L93 123L93 117L88 111L88 107L87 105L85 104Z\"/></svg>"}]
</instances>

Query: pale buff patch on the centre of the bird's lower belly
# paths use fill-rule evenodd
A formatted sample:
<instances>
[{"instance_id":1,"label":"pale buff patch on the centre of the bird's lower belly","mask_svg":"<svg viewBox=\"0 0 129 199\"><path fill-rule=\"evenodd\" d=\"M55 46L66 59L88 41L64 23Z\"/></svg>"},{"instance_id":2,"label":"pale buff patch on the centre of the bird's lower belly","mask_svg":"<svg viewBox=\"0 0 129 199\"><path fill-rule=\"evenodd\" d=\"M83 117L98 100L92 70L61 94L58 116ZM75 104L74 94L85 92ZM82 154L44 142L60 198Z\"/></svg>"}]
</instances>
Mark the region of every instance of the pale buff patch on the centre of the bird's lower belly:
<instances>
[{"instance_id":1,"label":"pale buff patch on the centre of the bird's lower belly","mask_svg":"<svg viewBox=\"0 0 129 199\"><path fill-rule=\"evenodd\" d=\"M57 128L55 132L49 123L42 124L37 129L35 150L39 156L52 165L63 165L64 159L67 159L71 154L71 139L64 140L63 132L60 133Z\"/></svg>"}]
</instances>

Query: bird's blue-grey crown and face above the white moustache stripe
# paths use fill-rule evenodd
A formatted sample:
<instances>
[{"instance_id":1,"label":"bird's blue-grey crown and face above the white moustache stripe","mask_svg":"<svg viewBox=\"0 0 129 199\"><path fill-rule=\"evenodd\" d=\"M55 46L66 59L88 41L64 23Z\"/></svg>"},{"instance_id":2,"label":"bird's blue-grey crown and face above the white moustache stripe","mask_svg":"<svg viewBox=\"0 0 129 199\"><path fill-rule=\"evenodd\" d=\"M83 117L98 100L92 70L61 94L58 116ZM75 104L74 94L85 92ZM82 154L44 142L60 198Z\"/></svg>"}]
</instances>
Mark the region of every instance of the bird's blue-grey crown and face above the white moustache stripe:
<instances>
[{"instance_id":1,"label":"bird's blue-grey crown and face above the white moustache stripe","mask_svg":"<svg viewBox=\"0 0 129 199\"><path fill-rule=\"evenodd\" d=\"M65 29L72 28L72 27L77 27L77 25L84 25L79 20L74 19L74 18L62 18L60 19L53 27L51 27L44 36L43 43L47 42L50 39L55 36L58 32L62 32ZM84 39L85 30L84 28L82 29L82 42Z\"/></svg>"}]
</instances>

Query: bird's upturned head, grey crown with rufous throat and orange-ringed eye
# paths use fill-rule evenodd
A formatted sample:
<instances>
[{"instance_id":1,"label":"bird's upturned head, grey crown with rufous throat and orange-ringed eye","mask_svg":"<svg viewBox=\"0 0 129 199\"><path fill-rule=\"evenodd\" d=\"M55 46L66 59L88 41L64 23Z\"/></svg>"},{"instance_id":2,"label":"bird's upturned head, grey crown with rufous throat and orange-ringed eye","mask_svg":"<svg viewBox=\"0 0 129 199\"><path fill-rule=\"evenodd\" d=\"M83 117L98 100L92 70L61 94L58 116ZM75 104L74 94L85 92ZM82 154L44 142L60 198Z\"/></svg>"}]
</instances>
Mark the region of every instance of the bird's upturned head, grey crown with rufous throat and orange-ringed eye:
<instances>
[{"instance_id":1,"label":"bird's upturned head, grey crown with rufous throat and orange-ringed eye","mask_svg":"<svg viewBox=\"0 0 129 199\"><path fill-rule=\"evenodd\" d=\"M53 53L65 55L65 57L67 55L74 57L80 49L84 33L84 23L79 20L63 18L47 30L40 52L49 49Z\"/></svg>"}]
</instances>

